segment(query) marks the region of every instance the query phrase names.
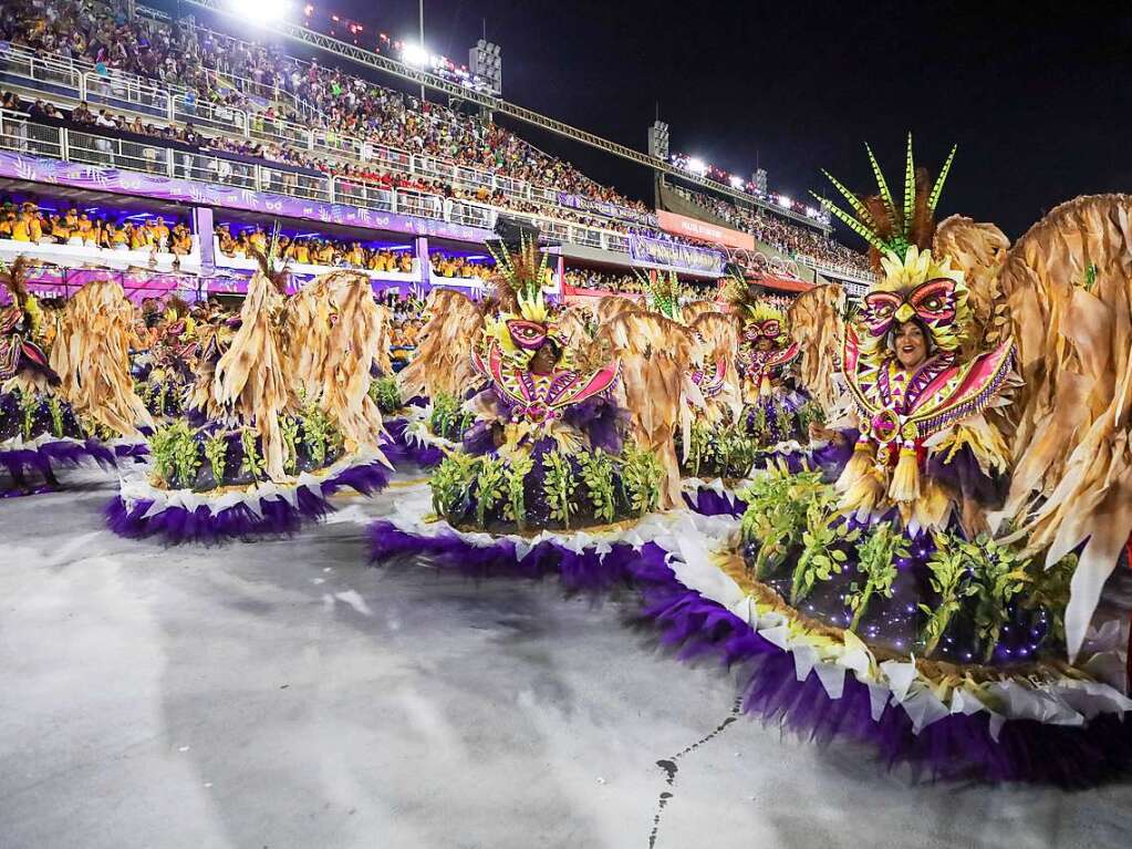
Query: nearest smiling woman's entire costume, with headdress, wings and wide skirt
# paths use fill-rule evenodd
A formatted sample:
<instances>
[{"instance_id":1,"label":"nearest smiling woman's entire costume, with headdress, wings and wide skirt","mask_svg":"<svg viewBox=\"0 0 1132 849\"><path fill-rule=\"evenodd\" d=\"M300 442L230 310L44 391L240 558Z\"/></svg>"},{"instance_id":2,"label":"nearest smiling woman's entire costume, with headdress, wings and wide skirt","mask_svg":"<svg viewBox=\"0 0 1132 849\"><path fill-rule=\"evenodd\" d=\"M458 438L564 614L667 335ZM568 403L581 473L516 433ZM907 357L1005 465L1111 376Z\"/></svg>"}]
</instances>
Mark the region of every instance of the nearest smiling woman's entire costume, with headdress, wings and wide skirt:
<instances>
[{"instance_id":1,"label":"nearest smiling woman's entire costume, with headdress, wings and wide skirt","mask_svg":"<svg viewBox=\"0 0 1132 849\"><path fill-rule=\"evenodd\" d=\"M1132 765L1126 636L1088 626L1132 528L1132 199L1067 204L1007 251L969 220L935 233L952 157L932 185L909 137L898 207L868 153L878 195L822 199L880 273L842 344L851 427L815 428L822 469L769 469L685 569L728 623L702 636L756 661L752 710L815 737L945 777L1108 778Z\"/></svg>"}]
</instances>

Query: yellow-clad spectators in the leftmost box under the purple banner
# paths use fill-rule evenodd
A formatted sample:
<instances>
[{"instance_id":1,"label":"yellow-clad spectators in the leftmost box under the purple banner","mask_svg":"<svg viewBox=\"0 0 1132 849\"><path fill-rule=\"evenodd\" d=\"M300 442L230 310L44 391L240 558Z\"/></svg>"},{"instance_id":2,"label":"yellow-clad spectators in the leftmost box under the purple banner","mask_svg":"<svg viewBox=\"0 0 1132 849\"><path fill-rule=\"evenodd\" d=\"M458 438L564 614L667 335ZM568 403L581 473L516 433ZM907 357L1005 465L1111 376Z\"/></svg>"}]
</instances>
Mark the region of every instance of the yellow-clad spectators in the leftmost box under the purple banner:
<instances>
[{"instance_id":1,"label":"yellow-clad spectators in the leftmost box under the purple banner","mask_svg":"<svg viewBox=\"0 0 1132 849\"><path fill-rule=\"evenodd\" d=\"M60 213L59 209L63 212ZM31 200L0 201L0 239L32 245L79 245L108 250L148 250L185 256L192 250L192 234L183 221L77 207L43 207Z\"/></svg>"}]
</instances>

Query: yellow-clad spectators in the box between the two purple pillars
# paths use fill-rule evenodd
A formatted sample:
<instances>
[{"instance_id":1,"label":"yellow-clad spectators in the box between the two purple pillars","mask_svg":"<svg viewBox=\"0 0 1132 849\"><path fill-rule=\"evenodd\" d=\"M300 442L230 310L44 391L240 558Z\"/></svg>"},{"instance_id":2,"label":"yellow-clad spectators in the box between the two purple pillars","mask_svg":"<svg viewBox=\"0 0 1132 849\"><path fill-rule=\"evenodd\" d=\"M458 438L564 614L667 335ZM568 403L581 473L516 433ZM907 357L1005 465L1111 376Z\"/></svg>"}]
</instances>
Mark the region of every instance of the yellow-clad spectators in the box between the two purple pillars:
<instances>
[{"instance_id":1,"label":"yellow-clad spectators in the box between the two purple pillars","mask_svg":"<svg viewBox=\"0 0 1132 849\"><path fill-rule=\"evenodd\" d=\"M266 255L271 235L261 226L246 226L232 232L229 224L217 224L216 240L221 254L233 259ZM314 235L280 235L278 256L299 265L325 265L371 272L413 271L411 250L391 250L384 246L366 246L360 241L342 241Z\"/></svg>"}]
</instances>

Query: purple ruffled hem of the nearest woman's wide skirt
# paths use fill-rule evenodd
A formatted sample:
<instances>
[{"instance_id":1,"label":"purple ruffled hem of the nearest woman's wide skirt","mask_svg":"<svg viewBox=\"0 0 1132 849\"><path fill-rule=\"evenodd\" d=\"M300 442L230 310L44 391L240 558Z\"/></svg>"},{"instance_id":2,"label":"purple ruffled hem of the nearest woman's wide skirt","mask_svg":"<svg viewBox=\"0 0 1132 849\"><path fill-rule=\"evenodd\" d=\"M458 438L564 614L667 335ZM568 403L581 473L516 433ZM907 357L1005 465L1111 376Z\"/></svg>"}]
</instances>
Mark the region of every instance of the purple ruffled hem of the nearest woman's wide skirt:
<instances>
[{"instance_id":1,"label":"purple ruffled hem of the nearest woman's wide skirt","mask_svg":"<svg viewBox=\"0 0 1132 849\"><path fill-rule=\"evenodd\" d=\"M713 654L727 666L749 668L744 710L762 714L764 722L823 744L834 738L869 744L890 767L907 763L917 773L945 780L1081 788L1126 774L1132 766L1132 727L1110 713L1084 727L1011 720L997 740L985 712L952 714L919 734L897 704L886 705L874 721L869 689L852 675L846 676L841 698L830 698L816 672L799 681L792 654L684 586L663 561L642 560L633 572L642 588L643 618L662 629L662 642L678 649L681 659Z\"/></svg>"}]
</instances>

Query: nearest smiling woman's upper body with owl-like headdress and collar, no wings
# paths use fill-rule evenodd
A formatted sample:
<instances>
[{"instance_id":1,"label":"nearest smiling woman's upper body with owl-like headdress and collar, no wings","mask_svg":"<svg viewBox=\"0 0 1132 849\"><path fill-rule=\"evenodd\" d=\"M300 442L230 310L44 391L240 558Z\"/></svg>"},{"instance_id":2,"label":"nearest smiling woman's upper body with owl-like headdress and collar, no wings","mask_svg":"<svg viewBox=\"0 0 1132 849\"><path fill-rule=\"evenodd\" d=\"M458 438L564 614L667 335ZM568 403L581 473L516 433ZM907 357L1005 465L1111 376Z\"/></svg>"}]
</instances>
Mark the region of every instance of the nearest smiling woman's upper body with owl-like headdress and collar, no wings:
<instances>
[{"instance_id":1,"label":"nearest smiling woman's upper body with owl-like headdress and collar, no wings","mask_svg":"<svg viewBox=\"0 0 1132 849\"><path fill-rule=\"evenodd\" d=\"M868 240L880 276L846 333L842 371L856 434L838 488L859 517L895 507L914 531L938 531L958 514L974 537L1005 492L1009 451L984 413L1006 403L1013 344L961 355L970 316L963 272L932 250L951 161L929 190L926 172L912 168L909 140L899 211L878 168L875 198L858 199L833 180L859 218L838 214ZM833 438L846 445L846 436Z\"/></svg>"}]
</instances>

